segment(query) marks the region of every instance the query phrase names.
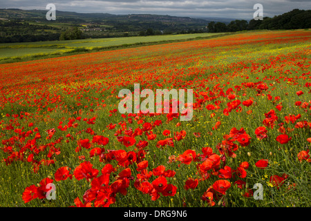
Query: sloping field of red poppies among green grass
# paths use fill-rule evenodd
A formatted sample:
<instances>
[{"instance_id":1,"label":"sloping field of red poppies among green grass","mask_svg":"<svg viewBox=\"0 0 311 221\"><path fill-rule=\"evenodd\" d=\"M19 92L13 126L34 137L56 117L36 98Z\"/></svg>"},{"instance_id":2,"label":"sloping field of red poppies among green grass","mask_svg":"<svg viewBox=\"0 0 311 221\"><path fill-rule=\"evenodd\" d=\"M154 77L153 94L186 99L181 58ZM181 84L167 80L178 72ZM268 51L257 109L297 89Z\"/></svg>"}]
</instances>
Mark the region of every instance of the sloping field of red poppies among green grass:
<instances>
[{"instance_id":1,"label":"sloping field of red poppies among green grass","mask_svg":"<svg viewBox=\"0 0 311 221\"><path fill-rule=\"evenodd\" d=\"M310 40L241 32L0 64L0 206L310 206ZM193 89L192 119L120 113L134 84Z\"/></svg>"}]
</instances>

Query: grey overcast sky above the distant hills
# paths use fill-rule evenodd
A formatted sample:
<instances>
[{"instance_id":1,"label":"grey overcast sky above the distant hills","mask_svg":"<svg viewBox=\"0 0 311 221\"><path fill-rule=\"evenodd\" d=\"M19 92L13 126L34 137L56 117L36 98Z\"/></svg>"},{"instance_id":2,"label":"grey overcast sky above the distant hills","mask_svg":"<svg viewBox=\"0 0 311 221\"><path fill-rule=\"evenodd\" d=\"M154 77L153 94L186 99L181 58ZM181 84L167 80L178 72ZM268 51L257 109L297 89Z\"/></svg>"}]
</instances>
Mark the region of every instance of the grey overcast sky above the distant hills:
<instances>
[{"instance_id":1,"label":"grey overcast sky above the distant hills","mask_svg":"<svg viewBox=\"0 0 311 221\"><path fill-rule=\"evenodd\" d=\"M311 0L0 0L0 8L102 12L115 15L157 14L185 17L225 17L252 19L255 3L263 5L263 16L274 17L294 8L311 9Z\"/></svg>"}]
</instances>

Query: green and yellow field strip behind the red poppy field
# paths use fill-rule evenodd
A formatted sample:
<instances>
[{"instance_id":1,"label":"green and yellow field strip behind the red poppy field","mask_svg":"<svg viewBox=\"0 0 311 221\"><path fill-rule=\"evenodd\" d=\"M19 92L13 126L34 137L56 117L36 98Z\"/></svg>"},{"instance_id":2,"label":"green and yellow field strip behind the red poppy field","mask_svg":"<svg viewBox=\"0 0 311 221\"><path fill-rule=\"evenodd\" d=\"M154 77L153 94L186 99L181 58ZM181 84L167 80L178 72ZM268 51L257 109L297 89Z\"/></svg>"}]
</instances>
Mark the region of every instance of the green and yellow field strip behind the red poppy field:
<instances>
[{"instance_id":1,"label":"green and yellow field strip behind the red poppy field","mask_svg":"<svg viewBox=\"0 0 311 221\"><path fill-rule=\"evenodd\" d=\"M186 35L157 35L147 37L117 37L104 39L81 39L71 41L39 41L0 44L0 64L27 61L38 58L58 57L81 52L128 48L156 43L169 43L190 39L205 39L227 33L199 33Z\"/></svg>"}]
</instances>

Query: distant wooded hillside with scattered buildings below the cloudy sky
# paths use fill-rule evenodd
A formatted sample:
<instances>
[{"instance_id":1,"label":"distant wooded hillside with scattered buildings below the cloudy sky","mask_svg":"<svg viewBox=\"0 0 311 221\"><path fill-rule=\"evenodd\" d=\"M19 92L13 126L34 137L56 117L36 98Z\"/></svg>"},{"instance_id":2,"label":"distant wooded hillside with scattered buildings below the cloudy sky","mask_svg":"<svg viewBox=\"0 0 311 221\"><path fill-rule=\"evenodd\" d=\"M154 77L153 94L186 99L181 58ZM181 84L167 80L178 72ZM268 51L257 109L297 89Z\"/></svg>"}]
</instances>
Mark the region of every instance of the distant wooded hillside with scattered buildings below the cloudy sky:
<instances>
[{"instance_id":1,"label":"distant wooded hillside with scattered buildings below the cloudy sky","mask_svg":"<svg viewBox=\"0 0 311 221\"><path fill-rule=\"evenodd\" d=\"M207 32L207 24L213 21L169 15L111 15L58 10L56 21L48 21L46 12L48 10L0 9L0 42L58 40L61 33L71 27L82 30L84 38L200 33Z\"/></svg>"}]
</instances>

